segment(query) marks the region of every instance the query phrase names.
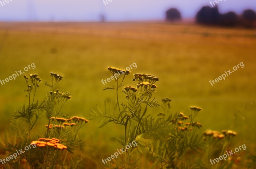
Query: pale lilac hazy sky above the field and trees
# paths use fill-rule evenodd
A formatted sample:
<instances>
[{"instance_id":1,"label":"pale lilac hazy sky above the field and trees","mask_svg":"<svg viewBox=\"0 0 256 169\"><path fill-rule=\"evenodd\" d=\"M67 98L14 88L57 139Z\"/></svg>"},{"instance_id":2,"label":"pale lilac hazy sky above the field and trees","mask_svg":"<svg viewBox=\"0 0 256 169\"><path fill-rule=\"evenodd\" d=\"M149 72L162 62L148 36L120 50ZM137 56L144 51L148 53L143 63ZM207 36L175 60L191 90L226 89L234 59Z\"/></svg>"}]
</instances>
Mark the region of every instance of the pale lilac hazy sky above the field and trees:
<instances>
[{"instance_id":1,"label":"pale lilac hazy sky above the field and trees","mask_svg":"<svg viewBox=\"0 0 256 169\"><path fill-rule=\"evenodd\" d=\"M192 18L204 5L210 5L210 0L112 0L107 5L103 0L9 0L0 4L0 20L99 21L101 13L107 21L158 20L171 7L180 10L183 18ZM220 12L241 14L245 9L256 11L256 0L223 0L218 6Z\"/></svg>"}]
</instances>

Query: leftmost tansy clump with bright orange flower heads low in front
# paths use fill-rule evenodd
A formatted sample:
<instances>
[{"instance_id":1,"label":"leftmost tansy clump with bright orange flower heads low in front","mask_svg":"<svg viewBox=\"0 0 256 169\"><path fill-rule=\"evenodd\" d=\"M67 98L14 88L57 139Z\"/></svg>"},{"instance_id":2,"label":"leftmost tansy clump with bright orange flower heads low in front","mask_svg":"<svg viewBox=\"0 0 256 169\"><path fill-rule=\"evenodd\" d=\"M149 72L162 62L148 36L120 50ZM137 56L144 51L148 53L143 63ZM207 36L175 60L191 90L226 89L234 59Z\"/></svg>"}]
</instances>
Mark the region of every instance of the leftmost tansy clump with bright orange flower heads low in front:
<instances>
[{"instance_id":1,"label":"leftmost tansy clump with bright orange flower heads low in front","mask_svg":"<svg viewBox=\"0 0 256 169\"><path fill-rule=\"evenodd\" d=\"M66 162L68 152L74 153L77 147L82 150L83 142L79 139L78 132L89 121L77 116L70 118L63 113L63 107L72 94L57 89L57 84L63 78L61 75L50 73L50 76L51 83L45 81L44 84L51 91L39 103L35 98L41 78L37 74L29 74L29 77L24 75L28 103L23 104L13 115L14 120L10 124L13 139L5 132L5 140L0 140L0 147L7 151L6 156L17 150L22 150L23 153L5 164L5 168L73 169L78 168L83 159L81 156L76 161L71 159L70 164ZM47 119L45 133L36 132L32 135L36 122L43 117ZM25 119L28 127L25 127L22 119ZM36 145L35 149L25 151L24 147L28 144Z\"/></svg>"}]
</instances>

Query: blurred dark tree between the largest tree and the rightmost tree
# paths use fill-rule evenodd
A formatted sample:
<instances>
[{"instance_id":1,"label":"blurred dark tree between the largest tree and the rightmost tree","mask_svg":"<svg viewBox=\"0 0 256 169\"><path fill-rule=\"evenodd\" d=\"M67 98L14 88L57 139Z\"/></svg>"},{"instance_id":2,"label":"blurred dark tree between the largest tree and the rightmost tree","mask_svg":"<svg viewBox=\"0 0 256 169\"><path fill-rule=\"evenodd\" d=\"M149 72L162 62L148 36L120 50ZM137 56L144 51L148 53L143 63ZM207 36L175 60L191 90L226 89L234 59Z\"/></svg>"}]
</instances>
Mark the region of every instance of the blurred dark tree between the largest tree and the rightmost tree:
<instances>
[{"instance_id":1,"label":"blurred dark tree between the largest tree and the rightmost tree","mask_svg":"<svg viewBox=\"0 0 256 169\"><path fill-rule=\"evenodd\" d=\"M238 16L235 12L228 12L220 15L219 24L221 26L235 27L238 25Z\"/></svg>"}]
</instances>

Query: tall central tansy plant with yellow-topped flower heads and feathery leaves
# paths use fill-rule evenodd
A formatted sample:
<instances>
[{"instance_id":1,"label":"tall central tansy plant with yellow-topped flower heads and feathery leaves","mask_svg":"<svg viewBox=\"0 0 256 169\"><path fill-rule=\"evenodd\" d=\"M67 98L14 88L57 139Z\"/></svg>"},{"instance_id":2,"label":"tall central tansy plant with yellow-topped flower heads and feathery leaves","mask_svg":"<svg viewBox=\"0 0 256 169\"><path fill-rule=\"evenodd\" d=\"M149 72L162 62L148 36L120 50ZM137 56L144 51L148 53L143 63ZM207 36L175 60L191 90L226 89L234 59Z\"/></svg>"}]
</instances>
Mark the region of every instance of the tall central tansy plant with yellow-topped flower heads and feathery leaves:
<instances>
[{"instance_id":1,"label":"tall central tansy plant with yellow-topped flower heads and feathery leaves","mask_svg":"<svg viewBox=\"0 0 256 169\"><path fill-rule=\"evenodd\" d=\"M121 76L115 79L115 84L112 87L104 88L116 90L116 100L115 106L111 108L111 102L107 106L105 103L105 111L102 112L99 108L98 111L91 111L91 119L99 118L99 127L104 127L109 122L114 122L117 125L122 125L124 128L124 137L116 138L116 140L123 146L121 149L125 150L125 145L129 142L136 141L137 146L126 150L124 157L122 157L124 163L120 163L116 160L113 165L107 164L108 167L112 168L137 168L136 164L140 157L137 159L132 158L137 154L142 154L144 147L149 147L152 139L148 139L147 136L154 135L155 137L160 136L160 133L167 133L171 126L170 123L164 123L160 119L153 118L147 113L148 108L156 108L160 106L153 94L157 88L156 82L159 79L156 76L151 76L150 74L134 74L134 87L127 86L124 87L123 97L125 102L120 102L119 100L119 89L122 88L124 79L130 74L128 70L122 70L116 67L108 67L108 70L113 75L117 72L124 72ZM108 108L107 108L108 107ZM117 111L117 112L116 112Z\"/></svg>"}]
</instances>

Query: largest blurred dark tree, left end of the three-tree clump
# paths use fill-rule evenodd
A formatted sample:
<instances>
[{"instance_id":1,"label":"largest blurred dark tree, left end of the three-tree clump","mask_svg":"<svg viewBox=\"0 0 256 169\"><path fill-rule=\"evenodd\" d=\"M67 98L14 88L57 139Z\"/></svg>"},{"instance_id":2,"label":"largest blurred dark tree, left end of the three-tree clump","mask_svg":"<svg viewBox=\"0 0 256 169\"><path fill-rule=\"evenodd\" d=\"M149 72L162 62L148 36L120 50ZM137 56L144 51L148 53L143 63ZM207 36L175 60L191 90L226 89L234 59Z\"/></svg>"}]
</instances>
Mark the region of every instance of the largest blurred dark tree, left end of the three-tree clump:
<instances>
[{"instance_id":1,"label":"largest blurred dark tree, left end of the three-tree clump","mask_svg":"<svg viewBox=\"0 0 256 169\"><path fill-rule=\"evenodd\" d=\"M219 19L220 13L217 6L214 8L204 6L196 14L196 22L200 24L215 25L218 24Z\"/></svg>"}]
</instances>

